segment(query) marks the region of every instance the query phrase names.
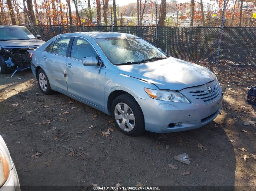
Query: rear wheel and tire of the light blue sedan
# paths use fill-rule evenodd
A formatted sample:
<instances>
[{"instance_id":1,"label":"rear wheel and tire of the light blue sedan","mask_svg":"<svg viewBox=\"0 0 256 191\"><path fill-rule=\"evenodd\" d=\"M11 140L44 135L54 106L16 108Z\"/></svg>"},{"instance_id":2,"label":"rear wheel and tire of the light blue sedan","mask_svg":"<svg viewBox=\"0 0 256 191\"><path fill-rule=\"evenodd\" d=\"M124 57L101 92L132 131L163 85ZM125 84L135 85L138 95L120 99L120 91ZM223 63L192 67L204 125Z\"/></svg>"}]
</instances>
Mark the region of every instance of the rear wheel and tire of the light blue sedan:
<instances>
[{"instance_id":1,"label":"rear wheel and tire of the light blue sedan","mask_svg":"<svg viewBox=\"0 0 256 191\"><path fill-rule=\"evenodd\" d=\"M54 92L51 88L47 75L42 68L40 68L37 72L37 81L43 94L50 95Z\"/></svg>"}]
</instances>

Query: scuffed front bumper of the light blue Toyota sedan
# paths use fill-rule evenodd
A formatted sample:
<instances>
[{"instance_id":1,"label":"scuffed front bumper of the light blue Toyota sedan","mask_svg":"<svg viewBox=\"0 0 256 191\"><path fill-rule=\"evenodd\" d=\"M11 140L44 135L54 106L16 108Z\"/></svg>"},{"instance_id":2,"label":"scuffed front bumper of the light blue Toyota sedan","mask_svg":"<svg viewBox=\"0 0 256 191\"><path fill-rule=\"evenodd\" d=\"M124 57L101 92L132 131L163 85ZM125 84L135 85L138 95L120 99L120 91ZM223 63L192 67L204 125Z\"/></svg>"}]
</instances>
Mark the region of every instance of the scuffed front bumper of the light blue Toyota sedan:
<instances>
[{"instance_id":1,"label":"scuffed front bumper of the light blue Toyota sedan","mask_svg":"<svg viewBox=\"0 0 256 191\"><path fill-rule=\"evenodd\" d=\"M156 133L167 133L196 129L210 123L221 110L222 97L221 92L218 99L208 104L180 103L137 97L135 100L144 114L145 129ZM173 126L175 123L183 125Z\"/></svg>"}]
</instances>

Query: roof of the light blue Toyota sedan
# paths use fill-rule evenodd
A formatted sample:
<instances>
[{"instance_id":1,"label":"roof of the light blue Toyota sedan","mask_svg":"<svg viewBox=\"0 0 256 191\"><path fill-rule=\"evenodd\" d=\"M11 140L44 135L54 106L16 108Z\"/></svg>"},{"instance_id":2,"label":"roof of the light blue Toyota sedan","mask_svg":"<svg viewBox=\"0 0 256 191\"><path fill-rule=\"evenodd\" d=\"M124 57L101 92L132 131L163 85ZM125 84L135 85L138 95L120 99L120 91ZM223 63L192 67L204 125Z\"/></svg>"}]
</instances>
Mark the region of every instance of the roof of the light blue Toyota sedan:
<instances>
[{"instance_id":1,"label":"roof of the light blue Toyota sedan","mask_svg":"<svg viewBox=\"0 0 256 191\"><path fill-rule=\"evenodd\" d=\"M63 36L66 35L72 35L74 34L75 36L89 36L93 39L97 38L111 38L111 37L136 37L135 35L132 34L127 34L127 33L115 33L115 32L78 32L78 33L66 33L62 34Z\"/></svg>"}]
</instances>

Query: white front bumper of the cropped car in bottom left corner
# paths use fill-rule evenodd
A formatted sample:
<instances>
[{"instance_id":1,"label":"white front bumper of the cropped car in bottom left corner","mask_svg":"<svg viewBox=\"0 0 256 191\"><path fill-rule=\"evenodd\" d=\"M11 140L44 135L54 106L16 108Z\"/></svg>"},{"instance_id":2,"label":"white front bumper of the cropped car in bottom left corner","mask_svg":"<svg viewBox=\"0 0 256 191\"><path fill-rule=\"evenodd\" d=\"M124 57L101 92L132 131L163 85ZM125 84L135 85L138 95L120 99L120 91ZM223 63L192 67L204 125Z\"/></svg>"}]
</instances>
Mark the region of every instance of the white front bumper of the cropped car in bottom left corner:
<instances>
[{"instance_id":1,"label":"white front bumper of the cropped car in bottom left corner","mask_svg":"<svg viewBox=\"0 0 256 191\"><path fill-rule=\"evenodd\" d=\"M12 170L10 171L8 179L6 180L4 185L0 188L0 191L20 191L18 174L13 164L12 158L11 158L11 163L12 163Z\"/></svg>"}]
</instances>

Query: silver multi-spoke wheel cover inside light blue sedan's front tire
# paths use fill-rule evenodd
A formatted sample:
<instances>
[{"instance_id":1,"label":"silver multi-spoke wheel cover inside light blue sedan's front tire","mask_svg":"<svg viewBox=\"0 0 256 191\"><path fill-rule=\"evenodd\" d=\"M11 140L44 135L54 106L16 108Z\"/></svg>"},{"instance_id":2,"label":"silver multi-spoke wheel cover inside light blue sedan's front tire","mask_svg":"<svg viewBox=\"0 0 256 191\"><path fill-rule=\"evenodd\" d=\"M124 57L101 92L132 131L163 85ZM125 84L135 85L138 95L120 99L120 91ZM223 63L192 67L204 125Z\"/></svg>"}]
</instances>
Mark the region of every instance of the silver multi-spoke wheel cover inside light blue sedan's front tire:
<instances>
[{"instance_id":1,"label":"silver multi-spoke wheel cover inside light blue sedan's front tire","mask_svg":"<svg viewBox=\"0 0 256 191\"><path fill-rule=\"evenodd\" d=\"M124 131L131 131L135 126L135 116L126 103L118 103L115 106L115 120Z\"/></svg>"}]
</instances>

